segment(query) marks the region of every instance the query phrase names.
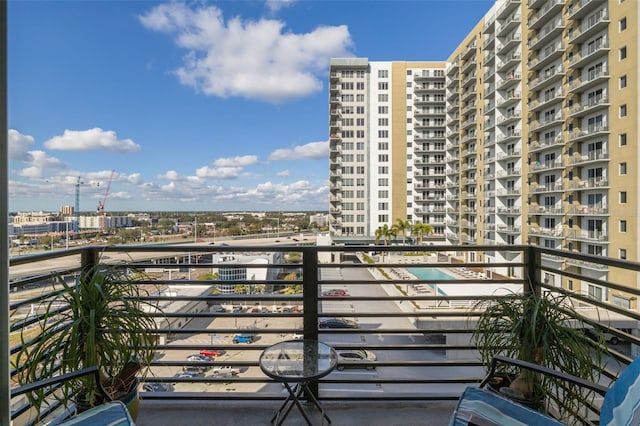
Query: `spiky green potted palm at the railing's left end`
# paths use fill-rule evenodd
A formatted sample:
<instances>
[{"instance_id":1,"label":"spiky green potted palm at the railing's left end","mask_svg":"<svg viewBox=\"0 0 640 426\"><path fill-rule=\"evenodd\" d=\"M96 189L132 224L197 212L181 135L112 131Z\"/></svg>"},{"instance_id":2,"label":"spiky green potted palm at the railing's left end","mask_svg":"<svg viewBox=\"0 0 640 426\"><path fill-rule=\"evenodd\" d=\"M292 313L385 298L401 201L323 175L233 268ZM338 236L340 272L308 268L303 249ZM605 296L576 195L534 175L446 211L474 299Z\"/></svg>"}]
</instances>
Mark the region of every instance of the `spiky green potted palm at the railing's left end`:
<instances>
[{"instance_id":1,"label":"spiky green potted palm at the railing's left end","mask_svg":"<svg viewBox=\"0 0 640 426\"><path fill-rule=\"evenodd\" d=\"M101 266L84 271L77 283L53 279L53 295L34 309L36 338L23 334L15 367L20 384L98 366L101 385L111 399L121 399L137 414L137 384L148 371L156 347L157 306L140 300L149 295L131 273ZM49 398L45 390L27 394L38 413L51 398L68 406L103 402L93 376L65 382Z\"/></svg>"}]
</instances>

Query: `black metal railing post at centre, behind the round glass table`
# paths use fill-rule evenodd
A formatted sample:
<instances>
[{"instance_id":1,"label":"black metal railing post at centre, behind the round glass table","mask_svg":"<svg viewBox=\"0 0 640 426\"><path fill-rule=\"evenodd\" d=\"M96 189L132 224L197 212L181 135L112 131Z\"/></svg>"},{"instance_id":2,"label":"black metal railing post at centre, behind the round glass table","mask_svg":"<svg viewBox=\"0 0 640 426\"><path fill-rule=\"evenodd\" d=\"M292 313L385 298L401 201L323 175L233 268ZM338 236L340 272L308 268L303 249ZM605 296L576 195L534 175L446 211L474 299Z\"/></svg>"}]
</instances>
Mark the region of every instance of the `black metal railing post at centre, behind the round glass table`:
<instances>
[{"instance_id":1,"label":"black metal railing post at centre, behind the round glass table","mask_svg":"<svg viewBox=\"0 0 640 426\"><path fill-rule=\"evenodd\" d=\"M305 339L318 340L318 249L302 249L302 328ZM309 384L311 393L318 398L318 382ZM309 399L309 398L307 398Z\"/></svg>"}]
</instances>

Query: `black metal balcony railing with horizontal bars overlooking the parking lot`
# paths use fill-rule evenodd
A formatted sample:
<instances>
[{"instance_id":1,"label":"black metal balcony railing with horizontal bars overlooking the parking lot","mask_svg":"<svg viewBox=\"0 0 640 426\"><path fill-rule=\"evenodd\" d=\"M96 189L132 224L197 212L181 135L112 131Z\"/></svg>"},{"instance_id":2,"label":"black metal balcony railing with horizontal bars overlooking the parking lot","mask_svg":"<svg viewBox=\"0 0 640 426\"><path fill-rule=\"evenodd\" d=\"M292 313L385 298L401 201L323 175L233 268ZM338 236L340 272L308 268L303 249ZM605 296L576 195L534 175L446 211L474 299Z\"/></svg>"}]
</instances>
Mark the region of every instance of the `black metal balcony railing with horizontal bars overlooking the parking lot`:
<instances>
[{"instance_id":1,"label":"black metal balcony railing with horizontal bars overlooking the parking lot","mask_svg":"<svg viewBox=\"0 0 640 426\"><path fill-rule=\"evenodd\" d=\"M512 228L505 232L519 232ZM637 274L639 263L535 246L409 246L400 244L398 237L393 246L318 247L296 245L285 238L281 237L291 245L230 241L231 245L220 246L87 247L13 258L11 334L26 331L29 335L40 315L37 306L60 291L51 287L54 276L77 277L91 269L92 259L98 259L100 264L129 271L137 284L151 289L144 299L163 307L163 313L155 314L158 356L151 365L152 375L145 380L171 384L172 391L142 392L143 402L280 401L281 386L262 374L258 358L263 349L293 334L319 339L338 350L366 349L377 354L370 365L375 370L336 371L314 383L313 392L321 401L455 400L484 375L469 339L477 316L470 307L479 300L500 297L494 295L496 288L523 291L523 277L529 278L526 282L534 291L569 295L594 327L627 339L634 350L640 345L640 339L621 331L635 329L640 321L637 311L588 296L588 287L596 285L605 289L603 294L608 290L639 297L635 285L625 284L635 278L621 278ZM447 238L458 235L449 232ZM476 241L473 235L461 238ZM465 261L471 256L485 261ZM550 257L560 260L545 264ZM592 271L594 265L605 275L593 278L579 269ZM222 273L225 270L234 271L232 279L220 278L228 275ZM554 275L556 283L571 280L573 286L571 290L552 286L542 280L542 274ZM470 285L469 291L456 290L465 285ZM347 295L324 295L334 288ZM64 311L65 306L60 309ZM357 328L320 328L319 321L329 317L351 318ZM607 318L606 323L602 318ZM232 336L239 332L256 339L233 344ZM30 339L37 336L31 334L23 343L19 338L12 340L10 354L29 345ZM239 368L241 373L178 377L189 366L210 367L186 361L186 356L201 349L223 351L215 364ZM615 349L612 354L622 363L631 360ZM14 380L22 368L11 370ZM616 377L616 371L605 372L609 378ZM14 424L33 424L27 418L29 410L26 400L14 399ZM188 410L185 406L184 415Z\"/></svg>"}]
</instances>

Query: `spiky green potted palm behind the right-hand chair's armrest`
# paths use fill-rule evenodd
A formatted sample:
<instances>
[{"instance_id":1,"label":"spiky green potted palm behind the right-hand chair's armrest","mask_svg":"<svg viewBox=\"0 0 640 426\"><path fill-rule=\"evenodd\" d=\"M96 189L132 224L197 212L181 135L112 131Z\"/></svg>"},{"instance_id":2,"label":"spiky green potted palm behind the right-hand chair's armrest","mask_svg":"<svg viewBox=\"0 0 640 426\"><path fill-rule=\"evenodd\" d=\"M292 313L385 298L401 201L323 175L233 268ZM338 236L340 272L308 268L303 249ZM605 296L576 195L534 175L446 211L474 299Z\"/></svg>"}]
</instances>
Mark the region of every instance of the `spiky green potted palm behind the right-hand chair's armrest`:
<instances>
[{"instance_id":1,"label":"spiky green potted palm behind the right-hand chair's armrest","mask_svg":"<svg viewBox=\"0 0 640 426\"><path fill-rule=\"evenodd\" d=\"M487 367L495 355L503 355L557 369L597 382L602 355L607 351L602 333L594 330L575 311L563 294L545 292L511 294L474 306L479 311L472 335L480 358ZM497 382L501 393L571 423L592 397L580 388L555 377L547 377L517 367L506 367ZM491 383L491 382L489 382Z\"/></svg>"}]
</instances>

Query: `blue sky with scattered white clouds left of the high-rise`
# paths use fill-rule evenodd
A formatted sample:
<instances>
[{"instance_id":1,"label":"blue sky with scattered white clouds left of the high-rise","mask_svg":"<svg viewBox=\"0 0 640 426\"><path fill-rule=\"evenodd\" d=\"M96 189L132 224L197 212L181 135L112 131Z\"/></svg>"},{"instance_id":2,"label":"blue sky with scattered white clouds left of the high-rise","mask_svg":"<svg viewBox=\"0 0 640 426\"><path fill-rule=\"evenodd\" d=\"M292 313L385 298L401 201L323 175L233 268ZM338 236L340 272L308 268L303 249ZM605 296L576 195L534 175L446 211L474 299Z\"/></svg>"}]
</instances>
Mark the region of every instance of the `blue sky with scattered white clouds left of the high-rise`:
<instances>
[{"instance_id":1,"label":"blue sky with scattered white clouds left of the high-rise","mask_svg":"<svg viewBox=\"0 0 640 426\"><path fill-rule=\"evenodd\" d=\"M439 61L493 0L9 0L9 210L328 209L332 57Z\"/></svg>"}]
</instances>

